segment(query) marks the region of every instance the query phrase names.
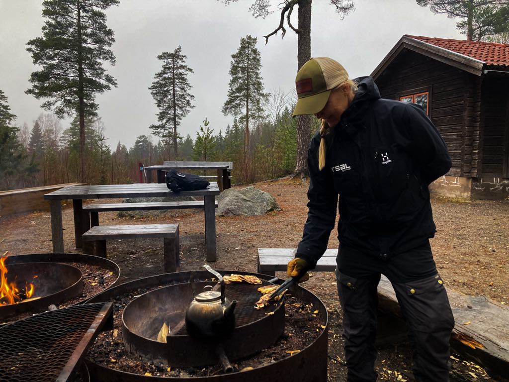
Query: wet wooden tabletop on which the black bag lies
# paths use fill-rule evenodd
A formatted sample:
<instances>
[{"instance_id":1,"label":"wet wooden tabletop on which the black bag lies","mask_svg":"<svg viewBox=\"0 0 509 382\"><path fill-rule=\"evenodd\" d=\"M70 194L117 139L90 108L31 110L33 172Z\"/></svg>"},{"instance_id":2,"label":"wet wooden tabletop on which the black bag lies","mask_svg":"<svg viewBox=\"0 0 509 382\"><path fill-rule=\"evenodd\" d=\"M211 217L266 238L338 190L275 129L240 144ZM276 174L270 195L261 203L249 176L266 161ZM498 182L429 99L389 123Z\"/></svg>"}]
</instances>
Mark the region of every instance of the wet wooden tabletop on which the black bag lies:
<instances>
[{"instance_id":1,"label":"wet wooden tabletop on which the black bag lies","mask_svg":"<svg viewBox=\"0 0 509 382\"><path fill-rule=\"evenodd\" d=\"M207 188L174 193L166 183L98 184L67 186L45 194L44 199L109 199L109 198L151 198L172 196L213 196L219 195L217 182Z\"/></svg>"}]
</instances>

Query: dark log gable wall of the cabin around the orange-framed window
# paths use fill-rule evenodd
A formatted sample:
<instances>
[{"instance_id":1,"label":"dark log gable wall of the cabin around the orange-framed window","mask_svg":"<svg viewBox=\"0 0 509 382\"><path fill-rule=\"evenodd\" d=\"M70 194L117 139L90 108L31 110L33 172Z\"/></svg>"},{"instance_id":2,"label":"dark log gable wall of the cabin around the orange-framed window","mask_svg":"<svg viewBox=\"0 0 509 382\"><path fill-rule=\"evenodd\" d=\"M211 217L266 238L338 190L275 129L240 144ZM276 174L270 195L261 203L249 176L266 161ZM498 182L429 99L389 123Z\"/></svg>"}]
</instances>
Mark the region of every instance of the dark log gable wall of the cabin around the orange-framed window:
<instances>
[{"instance_id":1,"label":"dark log gable wall of the cabin around the orange-framed window","mask_svg":"<svg viewBox=\"0 0 509 382\"><path fill-rule=\"evenodd\" d=\"M383 98L429 92L429 116L440 131L453 166L448 175L478 171L480 80L477 76L403 49L376 79Z\"/></svg>"}]
</instances>

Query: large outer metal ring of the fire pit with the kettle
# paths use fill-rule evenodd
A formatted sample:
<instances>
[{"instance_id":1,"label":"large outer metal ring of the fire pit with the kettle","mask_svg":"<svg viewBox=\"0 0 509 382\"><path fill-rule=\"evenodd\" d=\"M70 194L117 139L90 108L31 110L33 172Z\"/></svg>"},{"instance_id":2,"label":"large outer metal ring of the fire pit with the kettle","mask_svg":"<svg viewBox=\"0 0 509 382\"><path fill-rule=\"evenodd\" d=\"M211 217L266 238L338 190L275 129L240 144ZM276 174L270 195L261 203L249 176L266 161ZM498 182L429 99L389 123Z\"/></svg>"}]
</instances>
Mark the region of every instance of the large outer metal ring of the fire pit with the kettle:
<instances>
[{"instance_id":1,"label":"large outer metal ring of the fire pit with the kettle","mask_svg":"<svg viewBox=\"0 0 509 382\"><path fill-rule=\"evenodd\" d=\"M243 271L219 271L222 275L232 272L240 275L254 275L263 280L270 280L267 275L254 274ZM132 293L139 288L157 288L163 285L187 283L191 272L176 272L151 276L143 279L134 280L128 283L118 285L114 288L105 290L91 298L88 302L112 301L124 293ZM208 272L198 271L197 279L205 280L209 277ZM310 343L298 353L284 360L274 362L268 365L260 365L252 370L244 372L234 372L230 374L214 375L208 377L158 377L146 376L129 373L113 368L99 365L90 359L86 359L89 368L91 380L98 382L260 382L268 378L280 382L326 382L327 380L327 343L328 343L328 315L327 309L322 301L312 292L295 286L292 288L292 294L300 298L305 304L313 304L324 318L323 325L325 329L319 334L315 341Z\"/></svg>"}]
</instances>

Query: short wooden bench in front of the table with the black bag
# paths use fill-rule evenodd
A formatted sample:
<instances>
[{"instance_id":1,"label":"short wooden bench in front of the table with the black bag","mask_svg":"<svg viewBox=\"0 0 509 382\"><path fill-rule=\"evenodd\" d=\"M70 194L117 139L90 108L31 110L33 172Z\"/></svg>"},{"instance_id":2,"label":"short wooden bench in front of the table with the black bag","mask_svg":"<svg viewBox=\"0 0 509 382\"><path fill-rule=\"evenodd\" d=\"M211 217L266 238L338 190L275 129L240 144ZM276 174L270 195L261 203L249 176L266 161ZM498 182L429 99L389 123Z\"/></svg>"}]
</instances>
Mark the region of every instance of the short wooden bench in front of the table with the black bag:
<instances>
[{"instance_id":1,"label":"short wooden bench in front of the table with the black bag","mask_svg":"<svg viewBox=\"0 0 509 382\"><path fill-rule=\"evenodd\" d=\"M94 226L82 235L83 253L95 253L96 256L106 257L106 240L133 238L163 238L164 271L176 272L179 269L180 243L178 224Z\"/></svg>"}]
</instances>

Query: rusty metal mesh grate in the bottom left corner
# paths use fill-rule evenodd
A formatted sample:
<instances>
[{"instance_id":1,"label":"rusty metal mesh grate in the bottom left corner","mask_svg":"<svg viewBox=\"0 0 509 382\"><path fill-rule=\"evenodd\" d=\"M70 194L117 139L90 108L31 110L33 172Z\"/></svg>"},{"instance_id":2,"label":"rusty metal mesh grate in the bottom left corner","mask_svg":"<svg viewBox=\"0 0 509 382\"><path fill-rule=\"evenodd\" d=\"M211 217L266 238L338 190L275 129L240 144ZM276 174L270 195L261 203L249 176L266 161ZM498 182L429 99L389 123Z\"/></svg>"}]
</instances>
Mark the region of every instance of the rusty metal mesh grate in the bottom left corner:
<instances>
[{"instance_id":1,"label":"rusty metal mesh grate in the bottom left corner","mask_svg":"<svg viewBox=\"0 0 509 382\"><path fill-rule=\"evenodd\" d=\"M66 381L76 371L111 303L45 312L0 328L0 381Z\"/></svg>"}]
</instances>

